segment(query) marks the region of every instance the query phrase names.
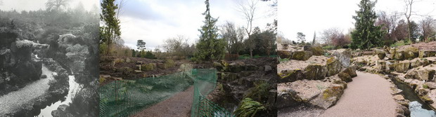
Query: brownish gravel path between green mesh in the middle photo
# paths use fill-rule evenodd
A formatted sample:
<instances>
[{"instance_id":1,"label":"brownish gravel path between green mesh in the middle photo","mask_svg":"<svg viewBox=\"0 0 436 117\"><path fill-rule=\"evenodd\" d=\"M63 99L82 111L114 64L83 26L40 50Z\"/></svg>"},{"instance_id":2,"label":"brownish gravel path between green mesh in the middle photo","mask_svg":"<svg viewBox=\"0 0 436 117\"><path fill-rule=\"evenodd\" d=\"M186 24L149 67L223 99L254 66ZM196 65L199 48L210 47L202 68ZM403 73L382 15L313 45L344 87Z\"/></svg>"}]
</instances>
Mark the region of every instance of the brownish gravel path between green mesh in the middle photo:
<instances>
[{"instance_id":1,"label":"brownish gravel path between green mesh in the middle photo","mask_svg":"<svg viewBox=\"0 0 436 117\"><path fill-rule=\"evenodd\" d=\"M153 117L172 117L172 116L191 116L191 106L193 101L194 87L179 92L169 99L159 102L154 106L136 113L134 117L153 116Z\"/></svg>"}]
</instances>

